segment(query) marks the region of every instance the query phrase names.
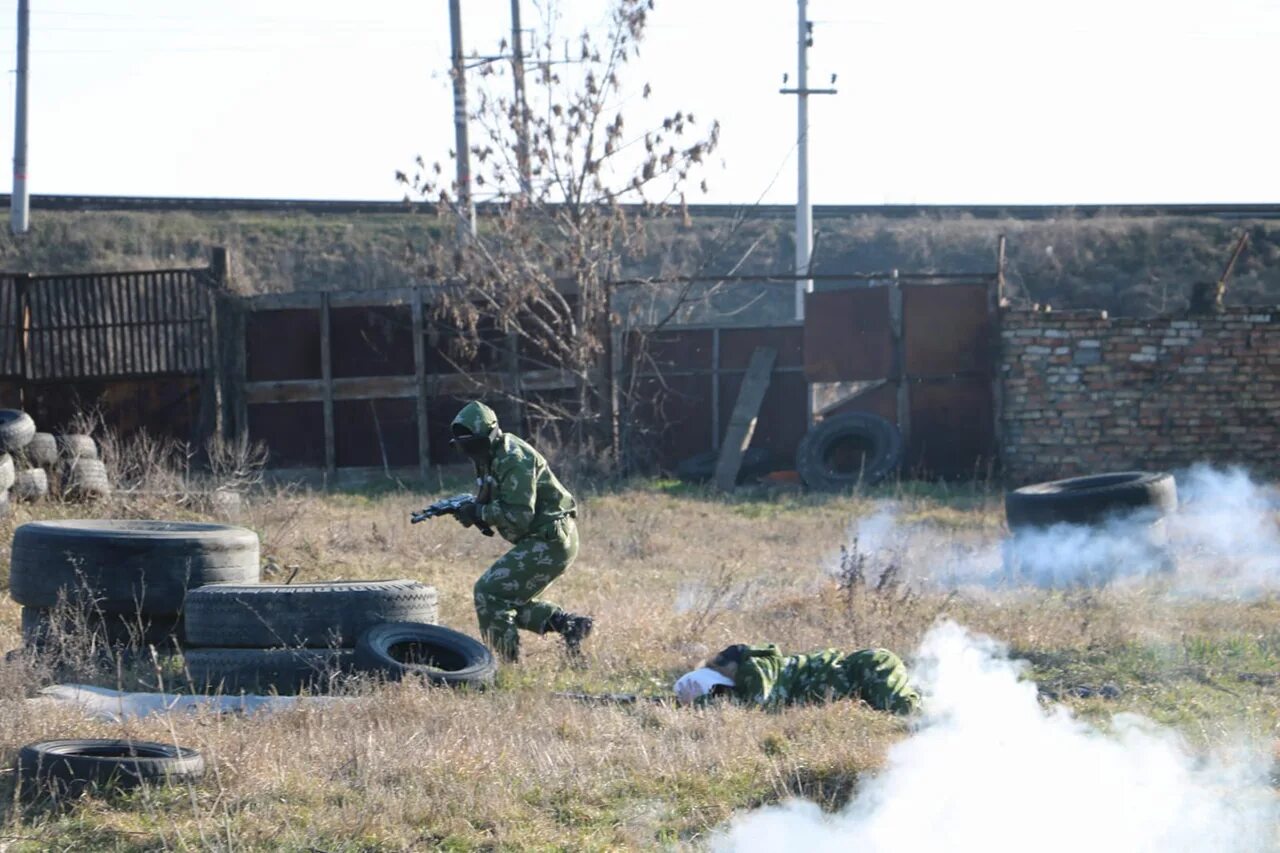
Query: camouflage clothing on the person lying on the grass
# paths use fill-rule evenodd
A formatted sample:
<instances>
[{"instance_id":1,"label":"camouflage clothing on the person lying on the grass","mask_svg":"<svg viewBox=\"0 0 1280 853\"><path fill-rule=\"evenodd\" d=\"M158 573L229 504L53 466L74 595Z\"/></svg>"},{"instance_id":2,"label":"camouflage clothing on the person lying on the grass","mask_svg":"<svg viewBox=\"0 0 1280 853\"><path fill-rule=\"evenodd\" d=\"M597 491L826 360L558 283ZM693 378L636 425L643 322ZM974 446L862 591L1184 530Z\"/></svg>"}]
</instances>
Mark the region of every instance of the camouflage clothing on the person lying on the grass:
<instances>
[{"instance_id":1,"label":"camouflage clothing on the person lying on the grass","mask_svg":"<svg viewBox=\"0 0 1280 853\"><path fill-rule=\"evenodd\" d=\"M909 713L920 697L911 688L906 666L888 649L841 652L833 648L783 656L773 643L744 646L733 695L776 710L787 704L856 698L873 708Z\"/></svg>"}]
</instances>

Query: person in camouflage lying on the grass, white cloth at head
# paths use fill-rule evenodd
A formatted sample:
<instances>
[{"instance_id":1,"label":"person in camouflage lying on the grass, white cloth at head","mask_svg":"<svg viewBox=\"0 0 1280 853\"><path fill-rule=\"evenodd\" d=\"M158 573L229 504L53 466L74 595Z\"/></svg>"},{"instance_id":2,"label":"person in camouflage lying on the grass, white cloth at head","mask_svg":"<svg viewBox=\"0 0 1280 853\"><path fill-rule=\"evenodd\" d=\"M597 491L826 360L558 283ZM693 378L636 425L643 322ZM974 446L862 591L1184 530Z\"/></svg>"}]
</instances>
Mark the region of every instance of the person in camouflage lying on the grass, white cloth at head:
<instances>
[{"instance_id":1,"label":"person in camouflage lying on the grass, white cloth at head","mask_svg":"<svg viewBox=\"0 0 1280 853\"><path fill-rule=\"evenodd\" d=\"M676 681L681 704L705 703L717 695L769 710L844 698L893 713L910 713L920 706L906 666L884 648L783 656L773 643L730 646Z\"/></svg>"}]
</instances>

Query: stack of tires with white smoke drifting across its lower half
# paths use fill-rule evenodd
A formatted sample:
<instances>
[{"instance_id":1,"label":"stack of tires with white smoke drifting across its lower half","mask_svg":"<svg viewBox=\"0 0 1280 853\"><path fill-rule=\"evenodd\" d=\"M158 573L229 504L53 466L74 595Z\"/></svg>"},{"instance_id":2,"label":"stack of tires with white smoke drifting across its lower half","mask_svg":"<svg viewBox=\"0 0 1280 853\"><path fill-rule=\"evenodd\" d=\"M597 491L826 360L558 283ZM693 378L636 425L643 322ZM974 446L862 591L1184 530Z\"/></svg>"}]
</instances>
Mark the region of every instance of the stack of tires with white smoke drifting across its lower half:
<instances>
[{"instance_id":1,"label":"stack of tires with white smoke drifting across its lower half","mask_svg":"<svg viewBox=\"0 0 1280 853\"><path fill-rule=\"evenodd\" d=\"M1005 494L1005 575L1039 585L1105 584L1172 571L1165 519L1178 485L1161 471L1034 483Z\"/></svg>"}]
</instances>

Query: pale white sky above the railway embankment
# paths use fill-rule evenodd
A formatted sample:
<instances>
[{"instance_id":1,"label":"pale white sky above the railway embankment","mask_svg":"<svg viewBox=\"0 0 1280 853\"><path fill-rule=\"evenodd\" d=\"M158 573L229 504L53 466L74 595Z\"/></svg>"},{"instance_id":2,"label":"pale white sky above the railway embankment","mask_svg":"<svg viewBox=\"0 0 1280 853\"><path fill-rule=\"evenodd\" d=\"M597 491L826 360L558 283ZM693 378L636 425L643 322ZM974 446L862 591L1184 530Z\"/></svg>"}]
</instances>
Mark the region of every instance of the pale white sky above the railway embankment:
<instances>
[{"instance_id":1,"label":"pale white sky above the railway embankment","mask_svg":"<svg viewBox=\"0 0 1280 853\"><path fill-rule=\"evenodd\" d=\"M524 0L526 27L538 18ZM603 0L563 0L571 24ZM31 192L394 200L453 145L447 0L31 0ZM462 0L497 53L509 0ZM815 204L1276 202L1280 0L810 0ZM795 0L658 0L626 73L792 204ZM13 158L17 0L0 3ZM476 81L479 83L479 81ZM627 128L646 106L626 96ZM4 191L12 187L9 169Z\"/></svg>"}]
</instances>

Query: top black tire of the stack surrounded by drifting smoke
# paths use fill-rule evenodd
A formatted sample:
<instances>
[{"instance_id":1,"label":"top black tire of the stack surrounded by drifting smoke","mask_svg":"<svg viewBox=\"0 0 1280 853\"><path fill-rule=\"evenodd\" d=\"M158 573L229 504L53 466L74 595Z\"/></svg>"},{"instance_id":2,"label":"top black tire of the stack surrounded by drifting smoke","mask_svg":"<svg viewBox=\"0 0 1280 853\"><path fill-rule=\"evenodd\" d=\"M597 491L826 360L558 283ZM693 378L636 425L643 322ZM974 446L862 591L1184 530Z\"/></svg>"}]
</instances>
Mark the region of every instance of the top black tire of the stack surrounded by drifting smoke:
<instances>
[{"instance_id":1,"label":"top black tire of the stack surrounded by drifting smoke","mask_svg":"<svg viewBox=\"0 0 1280 853\"><path fill-rule=\"evenodd\" d=\"M1097 524L1110 516L1148 512L1165 516L1178 508L1171 474L1119 471L1024 485L1005 494L1010 530L1053 524Z\"/></svg>"}]
</instances>

